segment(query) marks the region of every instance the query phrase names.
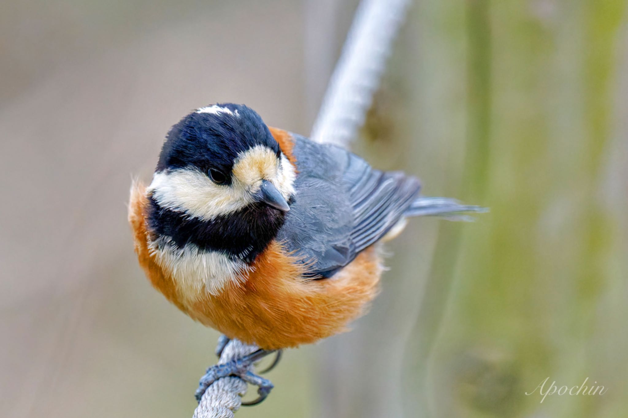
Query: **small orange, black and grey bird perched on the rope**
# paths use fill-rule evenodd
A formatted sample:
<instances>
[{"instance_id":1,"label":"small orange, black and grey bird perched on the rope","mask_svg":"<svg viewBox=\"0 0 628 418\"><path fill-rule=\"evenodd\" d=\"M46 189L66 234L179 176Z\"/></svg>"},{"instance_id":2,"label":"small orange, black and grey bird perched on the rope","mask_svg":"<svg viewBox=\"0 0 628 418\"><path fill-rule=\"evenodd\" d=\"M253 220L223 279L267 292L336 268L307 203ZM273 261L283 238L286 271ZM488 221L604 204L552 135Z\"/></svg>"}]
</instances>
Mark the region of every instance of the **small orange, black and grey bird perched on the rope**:
<instances>
[{"instance_id":1,"label":"small orange, black and grey bird perched on the rope","mask_svg":"<svg viewBox=\"0 0 628 418\"><path fill-rule=\"evenodd\" d=\"M408 217L483 211L419 191L414 177L268 127L245 105L201 107L176 123L151 184L131 187L139 264L191 318L260 347L209 368L197 399L227 375L264 399L272 384L246 367L347 330L377 295L380 243Z\"/></svg>"}]
</instances>

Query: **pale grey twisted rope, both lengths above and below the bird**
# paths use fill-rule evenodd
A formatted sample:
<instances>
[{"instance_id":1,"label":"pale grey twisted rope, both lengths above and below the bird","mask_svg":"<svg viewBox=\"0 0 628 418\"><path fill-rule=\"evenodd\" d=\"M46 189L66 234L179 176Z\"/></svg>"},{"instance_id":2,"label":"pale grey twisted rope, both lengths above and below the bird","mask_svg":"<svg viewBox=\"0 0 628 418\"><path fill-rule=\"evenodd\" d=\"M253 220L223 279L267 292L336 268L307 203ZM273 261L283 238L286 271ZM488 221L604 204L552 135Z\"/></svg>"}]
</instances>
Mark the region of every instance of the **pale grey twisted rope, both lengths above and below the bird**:
<instances>
[{"instance_id":1,"label":"pale grey twisted rope, both lengths above and below the bird","mask_svg":"<svg viewBox=\"0 0 628 418\"><path fill-rule=\"evenodd\" d=\"M348 147L364 123L410 1L360 2L323 98L311 133L312 140ZM218 363L227 363L255 350L257 347L254 345L231 340ZM234 417L242 405L242 395L246 389L246 382L239 377L216 380L205 390L193 418Z\"/></svg>"}]
</instances>

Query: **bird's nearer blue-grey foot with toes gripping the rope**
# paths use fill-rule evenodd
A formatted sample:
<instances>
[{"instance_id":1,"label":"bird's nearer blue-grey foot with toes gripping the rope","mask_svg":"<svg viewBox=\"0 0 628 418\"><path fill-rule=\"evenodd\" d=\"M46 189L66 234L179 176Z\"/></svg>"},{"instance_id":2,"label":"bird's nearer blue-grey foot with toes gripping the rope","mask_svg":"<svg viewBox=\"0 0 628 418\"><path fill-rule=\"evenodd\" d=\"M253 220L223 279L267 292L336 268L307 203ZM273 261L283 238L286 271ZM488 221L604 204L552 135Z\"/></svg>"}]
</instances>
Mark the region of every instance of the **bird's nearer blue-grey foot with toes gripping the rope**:
<instances>
[{"instance_id":1,"label":"bird's nearer blue-grey foot with toes gripping the rope","mask_svg":"<svg viewBox=\"0 0 628 418\"><path fill-rule=\"evenodd\" d=\"M203 375L198 382L198 389L195 393L197 401L200 402L205 390L207 390L207 388L210 387L210 385L212 385L216 380L222 379L223 377L237 376L248 384L256 385L257 394L259 395L256 400L252 400L251 402L242 402L242 405L251 406L259 404L266 399L274 386L270 380L254 374L249 370L249 368L252 363L257 362L257 360L260 360L273 352L273 350L260 349L244 357L236 358L235 360L230 360L227 363L217 364L207 368L205 375Z\"/></svg>"}]
</instances>

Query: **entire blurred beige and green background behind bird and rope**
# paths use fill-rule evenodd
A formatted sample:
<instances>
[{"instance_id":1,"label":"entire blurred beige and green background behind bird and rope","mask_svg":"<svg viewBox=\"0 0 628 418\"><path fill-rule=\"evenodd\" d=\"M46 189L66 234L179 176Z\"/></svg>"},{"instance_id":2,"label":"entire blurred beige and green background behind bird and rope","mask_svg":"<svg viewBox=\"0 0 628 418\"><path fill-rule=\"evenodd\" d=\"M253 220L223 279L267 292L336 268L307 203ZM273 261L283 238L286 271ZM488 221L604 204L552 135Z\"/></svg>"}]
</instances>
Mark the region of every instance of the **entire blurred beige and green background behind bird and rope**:
<instances>
[{"instance_id":1,"label":"entire blurred beige and green background behind bird and rope","mask_svg":"<svg viewBox=\"0 0 628 418\"><path fill-rule=\"evenodd\" d=\"M411 222L371 313L237 416L628 416L625 3L414 3L354 150L491 212ZM356 6L2 3L3 416L192 416L218 335L144 278L131 176L208 103L308 134Z\"/></svg>"}]
</instances>

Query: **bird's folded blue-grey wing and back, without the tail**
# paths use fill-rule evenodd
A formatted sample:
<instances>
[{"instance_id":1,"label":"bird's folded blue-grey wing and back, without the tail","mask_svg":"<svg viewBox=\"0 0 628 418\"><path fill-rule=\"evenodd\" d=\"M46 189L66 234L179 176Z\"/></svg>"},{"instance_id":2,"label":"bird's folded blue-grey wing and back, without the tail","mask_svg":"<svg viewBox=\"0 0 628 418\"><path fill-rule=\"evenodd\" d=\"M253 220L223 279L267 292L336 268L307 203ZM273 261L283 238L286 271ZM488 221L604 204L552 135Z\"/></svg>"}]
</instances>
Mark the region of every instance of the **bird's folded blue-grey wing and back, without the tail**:
<instances>
[{"instance_id":1,"label":"bird's folded blue-grey wing and back, without the tail","mask_svg":"<svg viewBox=\"0 0 628 418\"><path fill-rule=\"evenodd\" d=\"M293 153L296 195L278 239L312 275L331 276L381 239L420 189L414 177L374 170L335 145L295 135Z\"/></svg>"}]
</instances>

